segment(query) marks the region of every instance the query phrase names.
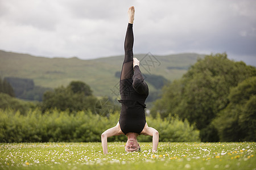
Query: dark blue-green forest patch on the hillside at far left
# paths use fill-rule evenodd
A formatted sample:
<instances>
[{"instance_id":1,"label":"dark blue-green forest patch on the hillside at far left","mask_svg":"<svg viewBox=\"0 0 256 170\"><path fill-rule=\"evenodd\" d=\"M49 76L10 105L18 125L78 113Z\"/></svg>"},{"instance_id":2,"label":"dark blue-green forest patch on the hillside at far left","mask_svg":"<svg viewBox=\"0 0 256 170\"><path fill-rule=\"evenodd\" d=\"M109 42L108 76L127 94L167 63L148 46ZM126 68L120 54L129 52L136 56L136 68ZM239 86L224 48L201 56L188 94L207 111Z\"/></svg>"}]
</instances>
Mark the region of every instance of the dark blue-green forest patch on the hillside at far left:
<instances>
[{"instance_id":1,"label":"dark blue-green forest patch on the hillside at far left","mask_svg":"<svg viewBox=\"0 0 256 170\"><path fill-rule=\"evenodd\" d=\"M51 88L35 86L34 80L16 77L6 77L4 79L13 87L15 97L25 100L42 101L43 94Z\"/></svg>"}]
</instances>

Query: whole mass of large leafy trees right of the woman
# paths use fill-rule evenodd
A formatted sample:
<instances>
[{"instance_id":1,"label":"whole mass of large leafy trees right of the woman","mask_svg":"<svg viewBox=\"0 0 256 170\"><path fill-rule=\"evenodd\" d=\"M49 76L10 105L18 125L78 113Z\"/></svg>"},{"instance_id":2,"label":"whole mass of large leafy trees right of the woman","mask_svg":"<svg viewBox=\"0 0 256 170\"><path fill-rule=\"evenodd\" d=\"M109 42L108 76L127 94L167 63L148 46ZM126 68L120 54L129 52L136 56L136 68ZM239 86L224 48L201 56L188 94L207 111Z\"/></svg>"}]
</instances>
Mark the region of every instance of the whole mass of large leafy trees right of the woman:
<instances>
[{"instance_id":1,"label":"whole mass of large leafy trees right of the woman","mask_svg":"<svg viewBox=\"0 0 256 170\"><path fill-rule=\"evenodd\" d=\"M256 141L255 76L255 67L225 53L205 56L163 88L151 114L187 119L202 142Z\"/></svg>"}]
</instances>

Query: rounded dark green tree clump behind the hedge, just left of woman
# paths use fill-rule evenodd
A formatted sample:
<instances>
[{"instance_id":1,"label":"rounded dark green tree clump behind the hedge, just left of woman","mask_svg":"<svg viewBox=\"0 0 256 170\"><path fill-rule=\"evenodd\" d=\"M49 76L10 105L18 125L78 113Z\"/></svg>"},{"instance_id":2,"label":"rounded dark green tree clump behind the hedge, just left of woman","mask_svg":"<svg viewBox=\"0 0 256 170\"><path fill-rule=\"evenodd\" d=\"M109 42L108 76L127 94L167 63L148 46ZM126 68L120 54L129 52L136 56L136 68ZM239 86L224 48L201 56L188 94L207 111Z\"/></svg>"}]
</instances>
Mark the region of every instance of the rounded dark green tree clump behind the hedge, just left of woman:
<instances>
[{"instance_id":1,"label":"rounded dark green tree clump behind the hedge, just left of woman","mask_svg":"<svg viewBox=\"0 0 256 170\"><path fill-rule=\"evenodd\" d=\"M45 92L39 108L43 113L51 109L70 113L90 111L106 117L114 111L120 111L112 99L94 96L90 86L81 81L72 81L67 87L61 86Z\"/></svg>"}]
</instances>

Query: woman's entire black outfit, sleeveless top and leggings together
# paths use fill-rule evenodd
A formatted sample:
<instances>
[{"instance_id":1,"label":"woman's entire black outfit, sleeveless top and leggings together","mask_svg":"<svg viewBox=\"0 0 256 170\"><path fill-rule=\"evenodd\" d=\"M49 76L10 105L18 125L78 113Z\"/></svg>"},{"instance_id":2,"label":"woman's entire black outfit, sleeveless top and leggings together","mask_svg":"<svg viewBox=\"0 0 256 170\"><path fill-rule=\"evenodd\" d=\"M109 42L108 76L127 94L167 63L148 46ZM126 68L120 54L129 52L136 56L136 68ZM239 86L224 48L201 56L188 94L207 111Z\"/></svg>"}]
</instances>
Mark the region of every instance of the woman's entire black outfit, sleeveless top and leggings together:
<instances>
[{"instance_id":1,"label":"woman's entire black outfit, sleeveless top and leggings together","mask_svg":"<svg viewBox=\"0 0 256 170\"><path fill-rule=\"evenodd\" d=\"M133 24L128 24L125 37L125 59L120 77L120 94L122 103L119 125L124 134L141 133L146 124L144 104L148 96L148 87L139 70L133 68Z\"/></svg>"}]
</instances>

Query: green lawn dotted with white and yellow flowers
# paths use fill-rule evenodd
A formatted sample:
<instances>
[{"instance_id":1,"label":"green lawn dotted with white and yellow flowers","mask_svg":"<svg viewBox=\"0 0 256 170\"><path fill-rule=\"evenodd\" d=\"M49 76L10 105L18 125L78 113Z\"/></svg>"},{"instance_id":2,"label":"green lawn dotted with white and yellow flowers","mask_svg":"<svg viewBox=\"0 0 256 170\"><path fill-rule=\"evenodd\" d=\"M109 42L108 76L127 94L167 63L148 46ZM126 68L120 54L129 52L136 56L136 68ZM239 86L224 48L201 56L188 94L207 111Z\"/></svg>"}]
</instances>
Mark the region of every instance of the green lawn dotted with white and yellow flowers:
<instances>
[{"instance_id":1,"label":"green lawn dotted with white and yellow flowers","mask_svg":"<svg viewBox=\"0 0 256 170\"><path fill-rule=\"evenodd\" d=\"M0 143L0 169L256 169L255 142L108 144L103 155L101 143Z\"/></svg>"}]
</instances>

